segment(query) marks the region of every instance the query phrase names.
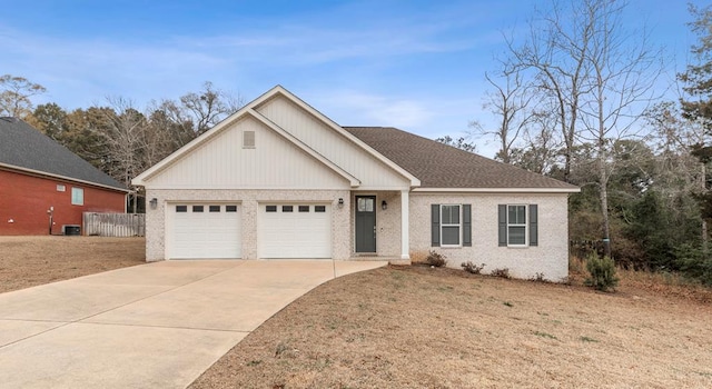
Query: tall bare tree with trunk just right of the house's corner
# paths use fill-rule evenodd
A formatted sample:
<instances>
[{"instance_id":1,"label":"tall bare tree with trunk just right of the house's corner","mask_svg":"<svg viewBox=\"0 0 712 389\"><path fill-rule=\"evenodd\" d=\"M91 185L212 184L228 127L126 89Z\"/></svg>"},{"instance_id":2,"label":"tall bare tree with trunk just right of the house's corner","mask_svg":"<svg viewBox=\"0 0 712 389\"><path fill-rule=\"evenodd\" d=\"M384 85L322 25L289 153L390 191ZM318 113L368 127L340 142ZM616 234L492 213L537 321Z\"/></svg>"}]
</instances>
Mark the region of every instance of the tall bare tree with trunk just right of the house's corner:
<instances>
[{"instance_id":1,"label":"tall bare tree with trunk just right of the house's corner","mask_svg":"<svg viewBox=\"0 0 712 389\"><path fill-rule=\"evenodd\" d=\"M605 255L611 255L609 179L615 167L611 146L616 140L639 137L636 126L655 98L653 86L662 71L660 50L651 50L647 32L635 37L623 30L624 3L614 0L586 0L580 12L591 21L594 33L585 59L591 74L591 92L581 106L582 137L596 144L599 193L603 217Z\"/></svg>"}]
</instances>

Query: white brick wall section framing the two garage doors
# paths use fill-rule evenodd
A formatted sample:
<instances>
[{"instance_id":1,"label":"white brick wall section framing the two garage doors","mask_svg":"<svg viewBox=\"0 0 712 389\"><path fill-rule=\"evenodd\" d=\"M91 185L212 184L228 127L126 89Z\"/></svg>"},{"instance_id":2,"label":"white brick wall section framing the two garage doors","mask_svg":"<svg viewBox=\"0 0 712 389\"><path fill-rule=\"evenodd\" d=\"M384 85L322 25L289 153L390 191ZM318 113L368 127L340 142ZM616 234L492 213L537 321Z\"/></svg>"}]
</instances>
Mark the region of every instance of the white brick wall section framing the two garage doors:
<instances>
[{"instance_id":1,"label":"white brick wall section framing the two garage doors","mask_svg":"<svg viewBox=\"0 0 712 389\"><path fill-rule=\"evenodd\" d=\"M257 258L257 208L259 201L330 202L332 255L334 259L350 257L350 193L342 190L147 190L147 199L158 199L156 209L146 210L146 259L166 259L166 209L176 201L239 202L241 210L243 258ZM338 199L344 206L338 207Z\"/></svg>"}]
</instances>

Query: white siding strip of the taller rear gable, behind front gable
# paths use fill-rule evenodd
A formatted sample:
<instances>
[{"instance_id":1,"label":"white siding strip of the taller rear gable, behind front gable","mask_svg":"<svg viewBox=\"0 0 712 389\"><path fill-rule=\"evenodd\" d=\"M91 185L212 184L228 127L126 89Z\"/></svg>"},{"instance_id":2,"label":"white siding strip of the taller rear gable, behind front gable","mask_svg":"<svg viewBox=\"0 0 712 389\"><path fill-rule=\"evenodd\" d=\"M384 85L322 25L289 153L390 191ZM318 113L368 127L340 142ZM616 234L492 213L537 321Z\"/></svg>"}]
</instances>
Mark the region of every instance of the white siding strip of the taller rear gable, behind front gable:
<instances>
[{"instance_id":1,"label":"white siding strip of the taller rear gable, behind front gable","mask_svg":"<svg viewBox=\"0 0 712 389\"><path fill-rule=\"evenodd\" d=\"M362 190L404 190L409 181L287 98L277 96L256 110L360 180Z\"/></svg>"}]
</instances>

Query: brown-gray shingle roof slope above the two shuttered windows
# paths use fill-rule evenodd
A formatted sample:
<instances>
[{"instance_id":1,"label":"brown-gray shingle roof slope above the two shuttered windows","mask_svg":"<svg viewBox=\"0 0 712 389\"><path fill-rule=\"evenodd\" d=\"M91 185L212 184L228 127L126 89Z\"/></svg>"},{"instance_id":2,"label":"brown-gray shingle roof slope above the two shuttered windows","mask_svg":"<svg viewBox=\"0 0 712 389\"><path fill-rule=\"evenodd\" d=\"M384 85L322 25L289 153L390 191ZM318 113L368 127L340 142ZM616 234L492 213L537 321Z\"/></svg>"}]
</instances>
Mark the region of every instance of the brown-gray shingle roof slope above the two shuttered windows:
<instances>
[{"instance_id":1,"label":"brown-gray shingle roof slope above the two shuttered windows","mask_svg":"<svg viewBox=\"0 0 712 389\"><path fill-rule=\"evenodd\" d=\"M422 188L576 189L566 182L395 128L344 129L417 177Z\"/></svg>"}]
</instances>

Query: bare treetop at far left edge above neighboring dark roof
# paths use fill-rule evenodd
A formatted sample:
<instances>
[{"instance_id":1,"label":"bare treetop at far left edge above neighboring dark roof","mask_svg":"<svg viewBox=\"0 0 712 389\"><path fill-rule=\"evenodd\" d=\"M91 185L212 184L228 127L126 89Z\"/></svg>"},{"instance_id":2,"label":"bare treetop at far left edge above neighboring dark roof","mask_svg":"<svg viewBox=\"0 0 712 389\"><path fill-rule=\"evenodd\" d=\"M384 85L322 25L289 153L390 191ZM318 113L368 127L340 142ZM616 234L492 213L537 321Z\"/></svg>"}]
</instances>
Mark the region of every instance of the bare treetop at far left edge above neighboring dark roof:
<instances>
[{"instance_id":1,"label":"bare treetop at far left edge above neighboring dark roof","mask_svg":"<svg viewBox=\"0 0 712 389\"><path fill-rule=\"evenodd\" d=\"M44 93L47 89L23 77L4 74L0 77L0 116L24 119L32 113L32 96Z\"/></svg>"}]
</instances>

